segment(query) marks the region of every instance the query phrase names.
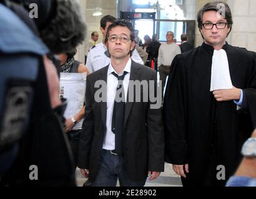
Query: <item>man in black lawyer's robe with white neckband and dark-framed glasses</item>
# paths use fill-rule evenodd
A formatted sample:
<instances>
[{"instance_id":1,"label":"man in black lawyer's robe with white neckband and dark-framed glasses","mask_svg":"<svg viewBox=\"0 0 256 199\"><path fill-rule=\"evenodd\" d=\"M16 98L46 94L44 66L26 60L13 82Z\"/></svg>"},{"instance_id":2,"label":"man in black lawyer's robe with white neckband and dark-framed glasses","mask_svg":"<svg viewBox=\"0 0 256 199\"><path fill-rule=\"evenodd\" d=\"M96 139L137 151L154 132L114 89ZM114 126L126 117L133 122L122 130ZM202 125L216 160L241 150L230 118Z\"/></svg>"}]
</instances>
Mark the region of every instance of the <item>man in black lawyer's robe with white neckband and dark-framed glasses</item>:
<instances>
[{"instance_id":1,"label":"man in black lawyer's robe with white neckband and dark-framed glasses","mask_svg":"<svg viewBox=\"0 0 256 199\"><path fill-rule=\"evenodd\" d=\"M197 21L204 43L174 58L165 92L165 162L184 186L224 186L256 127L255 53L225 42L225 2L205 4Z\"/></svg>"}]
</instances>

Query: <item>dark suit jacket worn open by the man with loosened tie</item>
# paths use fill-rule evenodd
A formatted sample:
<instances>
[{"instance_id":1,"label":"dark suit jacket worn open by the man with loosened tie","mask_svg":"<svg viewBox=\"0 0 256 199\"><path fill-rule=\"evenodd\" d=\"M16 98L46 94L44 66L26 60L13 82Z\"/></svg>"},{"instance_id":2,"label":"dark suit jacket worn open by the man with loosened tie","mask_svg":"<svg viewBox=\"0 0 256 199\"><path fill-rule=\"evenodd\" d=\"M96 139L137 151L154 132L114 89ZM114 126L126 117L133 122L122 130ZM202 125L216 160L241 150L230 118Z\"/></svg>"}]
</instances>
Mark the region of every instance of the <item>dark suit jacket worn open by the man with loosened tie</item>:
<instances>
[{"instance_id":1,"label":"dark suit jacket worn open by the man with loosened tie","mask_svg":"<svg viewBox=\"0 0 256 199\"><path fill-rule=\"evenodd\" d=\"M94 88L97 80L107 82L108 66L87 76L86 114L79 145L78 167L89 169L89 180L94 181L99 170L101 151L106 134L107 103L97 103ZM130 80L154 80L157 88L157 73L132 61ZM130 88L129 88L130 89ZM135 90L135 89L134 89ZM154 88L149 95L154 95ZM142 98L143 91L140 91ZM128 98L127 98L128 99ZM135 101L135 96L134 96ZM149 102L127 102L124 116L123 149L126 170L130 180L143 180L147 171L164 171L164 129L162 110L150 109Z\"/></svg>"}]
</instances>

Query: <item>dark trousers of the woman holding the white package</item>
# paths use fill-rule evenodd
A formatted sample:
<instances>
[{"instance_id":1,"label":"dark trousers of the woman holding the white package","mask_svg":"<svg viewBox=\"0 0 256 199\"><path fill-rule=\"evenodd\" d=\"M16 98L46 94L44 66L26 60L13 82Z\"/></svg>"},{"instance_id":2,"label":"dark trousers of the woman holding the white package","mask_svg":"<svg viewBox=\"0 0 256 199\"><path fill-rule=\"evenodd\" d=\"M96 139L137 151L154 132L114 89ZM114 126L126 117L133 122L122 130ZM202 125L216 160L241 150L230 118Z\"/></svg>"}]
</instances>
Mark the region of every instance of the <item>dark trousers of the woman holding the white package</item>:
<instances>
[{"instance_id":1,"label":"dark trousers of the woman holding the white package","mask_svg":"<svg viewBox=\"0 0 256 199\"><path fill-rule=\"evenodd\" d=\"M77 167L77 155L79 150L79 140L80 140L81 130L72 130L67 132L67 137L69 139L69 144L71 146L72 155L74 158L74 168Z\"/></svg>"}]
</instances>

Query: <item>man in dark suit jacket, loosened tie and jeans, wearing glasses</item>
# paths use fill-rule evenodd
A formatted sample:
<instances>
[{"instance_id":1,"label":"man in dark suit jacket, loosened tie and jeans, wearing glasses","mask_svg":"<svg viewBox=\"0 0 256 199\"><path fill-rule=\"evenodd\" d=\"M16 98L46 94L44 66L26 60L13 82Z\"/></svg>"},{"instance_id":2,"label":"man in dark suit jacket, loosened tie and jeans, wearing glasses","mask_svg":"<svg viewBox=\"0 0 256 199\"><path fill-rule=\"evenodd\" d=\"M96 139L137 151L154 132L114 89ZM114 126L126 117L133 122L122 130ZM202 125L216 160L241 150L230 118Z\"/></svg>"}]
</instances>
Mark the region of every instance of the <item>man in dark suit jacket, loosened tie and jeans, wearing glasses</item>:
<instances>
[{"instance_id":1,"label":"man in dark suit jacket, loosened tie and jeans, wearing glasses","mask_svg":"<svg viewBox=\"0 0 256 199\"><path fill-rule=\"evenodd\" d=\"M91 186L114 187L117 178L121 186L144 186L147 176L154 180L164 171L161 99L152 100L161 96L157 74L130 60L135 42L129 22L110 25L106 44L111 63L87 76L78 167ZM133 90L141 81L143 91Z\"/></svg>"}]
</instances>

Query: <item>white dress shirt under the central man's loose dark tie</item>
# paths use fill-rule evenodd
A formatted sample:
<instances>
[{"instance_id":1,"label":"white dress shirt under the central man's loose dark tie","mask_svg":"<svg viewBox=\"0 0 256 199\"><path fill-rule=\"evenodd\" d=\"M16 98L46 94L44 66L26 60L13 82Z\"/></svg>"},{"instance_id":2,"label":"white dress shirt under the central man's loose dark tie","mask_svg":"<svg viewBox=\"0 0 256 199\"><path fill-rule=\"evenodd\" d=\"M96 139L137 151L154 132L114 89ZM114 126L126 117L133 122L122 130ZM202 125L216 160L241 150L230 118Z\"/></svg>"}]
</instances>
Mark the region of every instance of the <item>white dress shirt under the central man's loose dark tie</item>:
<instances>
[{"instance_id":1,"label":"white dress shirt under the central man's loose dark tie","mask_svg":"<svg viewBox=\"0 0 256 199\"><path fill-rule=\"evenodd\" d=\"M132 60L129 59L129 61L126 63L126 67L124 68L124 71L127 72L126 76L124 76L123 85L124 85L124 93L125 98L127 99L127 92L128 92L128 86L129 86L129 80L130 80L130 67L132 64ZM124 71L119 74L119 76L124 74ZM115 149L115 134L111 130L112 126L112 115L113 115L113 108L114 108L114 101L116 98L116 90L118 85L118 80L116 76L112 74L112 72L116 71L112 67L111 63L109 64L109 69L107 70L107 121L106 121L106 127L107 132L105 135L104 143L103 143L103 149L106 150L114 150Z\"/></svg>"}]
</instances>

